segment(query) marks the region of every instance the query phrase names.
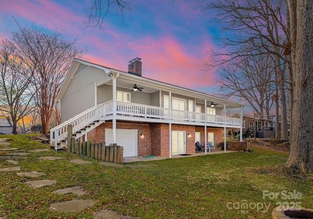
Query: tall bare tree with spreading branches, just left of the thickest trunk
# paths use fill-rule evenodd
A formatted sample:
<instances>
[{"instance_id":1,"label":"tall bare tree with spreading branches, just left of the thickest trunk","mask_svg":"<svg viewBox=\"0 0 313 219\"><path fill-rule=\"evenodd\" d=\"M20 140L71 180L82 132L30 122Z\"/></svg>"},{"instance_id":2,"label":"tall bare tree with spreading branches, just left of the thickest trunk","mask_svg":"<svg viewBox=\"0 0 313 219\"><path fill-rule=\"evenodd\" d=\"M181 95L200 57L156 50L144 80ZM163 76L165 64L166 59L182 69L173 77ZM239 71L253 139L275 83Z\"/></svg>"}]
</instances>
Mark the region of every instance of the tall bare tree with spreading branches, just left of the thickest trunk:
<instances>
[{"instance_id":1,"label":"tall bare tree with spreading branches, just left of the thickest trunk","mask_svg":"<svg viewBox=\"0 0 313 219\"><path fill-rule=\"evenodd\" d=\"M286 139L287 130L287 102L285 93L284 63L288 59L284 55L284 49L288 41L288 28L286 26L286 13L284 0L214 0L209 3L196 0L204 10L218 10L217 20L222 29L232 31L232 37L224 38L222 45L228 48L224 52L211 52L210 58L213 60L207 63L208 69L221 66L230 60L241 56L238 50L241 44L250 44L250 50L246 53L253 54L254 51L267 51L273 57L277 73L276 87L280 98L282 138ZM234 34L237 33L237 34ZM262 49L260 49L262 48ZM212 64L213 63L213 64ZM278 109L278 99L276 108ZM276 124L279 124L278 114Z\"/></svg>"}]
</instances>

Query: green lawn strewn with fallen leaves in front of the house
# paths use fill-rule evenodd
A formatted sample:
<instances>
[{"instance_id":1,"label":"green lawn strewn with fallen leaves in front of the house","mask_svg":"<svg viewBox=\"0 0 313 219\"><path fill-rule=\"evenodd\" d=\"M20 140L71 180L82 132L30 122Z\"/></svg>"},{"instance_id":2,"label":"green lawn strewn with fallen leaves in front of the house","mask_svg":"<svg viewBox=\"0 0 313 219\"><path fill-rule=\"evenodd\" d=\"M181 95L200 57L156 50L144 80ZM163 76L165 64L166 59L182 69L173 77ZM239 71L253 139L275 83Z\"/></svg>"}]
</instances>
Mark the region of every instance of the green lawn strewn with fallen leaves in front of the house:
<instances>
[{"instance_id":1,"label":"green lawn strewn with fallen leaves in front of the house","mask_svg":"<svg viewBox=\"0 0 313 219\"><path fill-rule=\"evenodd\" d=\"M21 150L49 148L30 139L30 135L1 135L12 139ZM9 153L9 152L4 152ZM39 160L38 156L62 156L63 160ZM290 173L284 168L288 154L262 149L253 153L226 153L142 162L141 168L112 168L98 160L66 152L31 153L19 161L20 172L38 171L46 175L30 179L17 172L0 172L0 218L86 218L94 212L111 209L118 214L144 219L267 219L276 202L300 201L313 206L313 181L310 175ZM93 164L73 164L71 159ZM136 165L138 163L132 163ZM15 166L0 159L0 168ZM55 179L57 184L33 189L22 182ZM86 195L59 195L56 189L82 186ZM263 199L262 191L300 192L302 199ZM92 199L96 204L81 212L63 213L49 209L55 202L75 198ZM266 203L269 210L248 209L236 203ZM235 204L235 205L234 205ZM227 208L227 206L229 208ZM230 209L230 207L232 209Z\"/></svg>"}]
</instances>

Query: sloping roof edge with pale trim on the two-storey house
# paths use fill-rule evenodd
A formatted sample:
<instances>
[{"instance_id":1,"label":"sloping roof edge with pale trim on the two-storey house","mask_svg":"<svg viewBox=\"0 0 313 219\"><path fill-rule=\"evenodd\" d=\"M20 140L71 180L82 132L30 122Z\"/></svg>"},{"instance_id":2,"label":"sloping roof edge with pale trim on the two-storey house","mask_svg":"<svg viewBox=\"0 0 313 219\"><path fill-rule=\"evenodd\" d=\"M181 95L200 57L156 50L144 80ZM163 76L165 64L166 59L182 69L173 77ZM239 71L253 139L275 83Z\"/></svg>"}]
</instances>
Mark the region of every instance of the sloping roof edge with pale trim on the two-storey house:
<instances>
[{"instance_id":1,"label":"sloping roof edge with pale trim on the two-storey house","mask_svg":"<svg viewBox=\"0 0 313 219\"><path fill-rule=\"evenodd\" d=\"M110 68L110 67L107 67L107 66L101 66L101 65L98 65L98 64L94 64L94 63L90 63L90 62L87 62L87 61L83 61L83 60L80 60L80 59L74 59L73 60L73 63L72 65L70 66L70 69L67 73L67 76L62 84L62 87L60 89L60 92L57 96L57 101L60 101L71 81L71 79L74 77L74 75L76 74L77 70L80 69L80 65L86 65L86 66L93 66L93 67L96 67L96 68L99 68L99 69L102 69L104 70L104 73L105 74L113 74L113 75L116 75L116 74L119 74L119 77L122 77L122 78L126 78L126 79L130 79L130 80L134 80L136 81L137 83L136 84L140 84L141 83L146 83L146 84L149 84L149 85L152 85L152 86L156 86L156 87L160 87L160 88L167 88L169 90L175 90L181 94L185 94L185 95L192 95L194 97L198 97L198 98L202 98L202 99L209 99L210 101L213 101L214 103L215 102L223 102L223 104L226 104L228 106L231 106L229 107L229 109L231 108L240 108L240 107L243 107L245 105L242 105L240 103L237 103L237 102L234 102L234 101L230 101L230 100L225 100L225 99L222 99L222 98L219 98L219 97L215 97L215 96L212 96L212 95L209 95L209 94L206 94L206 93L203 93L203 92L200 92L200 91L196 91L196 90L192 90L192 89L189 89L189 88L183 88L183 87L179 87L179 86L176 86L176 85L172 85L172 84L169 84L169 83L165 83L165 82L161 82L161 81L157 81L157 80L154 80L154 79L150 79L150 78L146 78L146 77L143 77L143 76L138 76L138 75L135 75L135 74L130 74L129 72L125 72L125 71L121 71L121 70L117 70L117 69L114 69L114 68ZM208 103L209 104L209 103ZM223 107L223 106L221 106ZM226 109L228 109L226 107Z\"/></svg>"}]
</instances>

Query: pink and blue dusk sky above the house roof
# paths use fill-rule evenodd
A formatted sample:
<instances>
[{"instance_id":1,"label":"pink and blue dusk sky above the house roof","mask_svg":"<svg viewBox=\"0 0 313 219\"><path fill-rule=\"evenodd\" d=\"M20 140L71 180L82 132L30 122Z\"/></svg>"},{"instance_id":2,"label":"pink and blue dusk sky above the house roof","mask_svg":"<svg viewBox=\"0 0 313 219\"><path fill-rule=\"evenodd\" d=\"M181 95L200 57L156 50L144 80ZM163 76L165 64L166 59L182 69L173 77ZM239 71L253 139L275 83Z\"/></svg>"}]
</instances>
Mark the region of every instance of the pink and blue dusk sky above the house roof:
<instances>
[{"instance_id":1,"label":"pink and blue dusk sky above the house roof","mask_svg":"<svg viewBox=\"0 0 313 219\"><path fill-rule=\"evenodd\" d=\"M0 37L16 29L14 20L65 29L69 39L88 50L84 60L127 71L128 62L139 57L144 77L209 94L217 91L214 71L202 69L210 62L207 52L219 49L221 33L210 22L213 17L194 8L192 0L133 0L125 25L110 16L104 30L84 28L92 1L0 0Z\"/></svg>"}]
</instances>

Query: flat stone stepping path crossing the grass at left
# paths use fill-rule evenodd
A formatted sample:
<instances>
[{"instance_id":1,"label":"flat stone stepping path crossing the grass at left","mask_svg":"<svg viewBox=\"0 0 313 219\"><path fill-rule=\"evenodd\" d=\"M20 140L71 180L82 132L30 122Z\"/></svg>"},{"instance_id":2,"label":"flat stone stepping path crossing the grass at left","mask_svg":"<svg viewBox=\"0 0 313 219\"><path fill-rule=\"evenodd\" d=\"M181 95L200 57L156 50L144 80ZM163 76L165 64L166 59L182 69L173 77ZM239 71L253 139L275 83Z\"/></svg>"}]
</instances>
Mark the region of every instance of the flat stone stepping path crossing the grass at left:
<instances>
[{"instance_id":1,"label":"flat stone stepping path crossing the grass at left","mask_svg":"<svg viewBox=\"0 0 313 219\"><path fill-rule=\"evenodd\" d=\"M27 156L30 153L40 153L40 152L49 152L51 149L35 149L35 150L29 150L27 152L21 152L18 151L19 148L12 148L11 144L9 143L10 139L7 138L2 138L0 139L0 151L11 151L11 153L6 153L0 155L0 159L5 159L6 162L16 165L12 167L7 167L7 168L2 168L0 169L0 172L9 172L9 171L17 171L17 175L21 177L30 177L30 178L36 178L36 177L41 177L45 176L46 174L43 172L37 172L37 171L32 171L32 172L19 172L21 170L21 166L18 166L19 161L22 159L27 159ZM15 151L15 152L12 152ZM60 159L65 159L64 157L59 157L59 156L41 156L37 157L38 159L41 160L60 160ZM75 164L92 164L90 161L86 161L83 159L73 159L69 160L68 162L75 163ZM104 166L110 166L114 168L123 168L125 165L121 164L113 164L113 163L106 163L106 162L100 162L100 165ZM129 168L140 168L140 165L138 166L132 166L128 165L126 167ZM44 186L54 186L57 184L57 181L54 179L41 179L41 180L29 180L23 182L24 184L32 187L32 188L41 188ZM64 188L64 189L58 189L53 191L52 193L56 194L75 194L78 196L85 195L85 192L82 187L80 186L73 186L69 188ZM52 203L50 205L50 209L54 211L62 211L62 212L71 212L71 211L82 211L88 207L93 206L96 203L94 200L89 200L89 199L73 199L70 201L64 201L64 202L58 202L58 203ZM102 210L99 212L96 212L94 214L94 219L139 219L137 217L126 217L126 216L120 216L117 215L114 211L108 211L108 210Z\"/></svg>"}]
</instances>

